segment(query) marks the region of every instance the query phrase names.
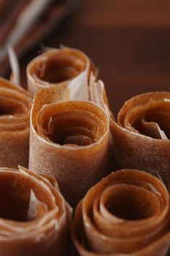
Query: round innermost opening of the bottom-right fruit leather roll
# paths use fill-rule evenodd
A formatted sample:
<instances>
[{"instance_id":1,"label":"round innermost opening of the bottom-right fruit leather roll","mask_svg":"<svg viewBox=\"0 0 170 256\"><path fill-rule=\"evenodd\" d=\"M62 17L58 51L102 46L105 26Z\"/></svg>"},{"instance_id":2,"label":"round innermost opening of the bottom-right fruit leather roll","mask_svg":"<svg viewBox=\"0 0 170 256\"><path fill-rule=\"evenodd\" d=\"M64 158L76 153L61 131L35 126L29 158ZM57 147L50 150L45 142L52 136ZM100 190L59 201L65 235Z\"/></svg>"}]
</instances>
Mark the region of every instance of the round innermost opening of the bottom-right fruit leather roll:
<instances>
[{"instance_id":1,"label":"round innermost opening of the bottom-right fruit leather roll","mask_svg":"<svg viewBox=\"0 0 170 256\"><path fill-rule=\"evenodd\" d=\"M103 192L101 200L106 210L125 220L143 220L161 210L156 195L133 185L111 186Z\"/></svg>"}]
</instances>

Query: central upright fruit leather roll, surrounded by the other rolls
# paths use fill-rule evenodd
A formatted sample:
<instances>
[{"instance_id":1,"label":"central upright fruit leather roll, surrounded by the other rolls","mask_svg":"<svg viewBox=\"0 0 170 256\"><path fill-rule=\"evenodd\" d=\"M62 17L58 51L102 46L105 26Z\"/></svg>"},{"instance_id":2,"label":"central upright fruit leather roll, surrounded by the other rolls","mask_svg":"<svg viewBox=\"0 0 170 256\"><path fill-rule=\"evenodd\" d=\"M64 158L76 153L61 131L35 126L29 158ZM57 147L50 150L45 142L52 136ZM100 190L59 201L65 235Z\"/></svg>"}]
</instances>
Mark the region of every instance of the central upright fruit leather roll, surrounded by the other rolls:
<instances>
[{"instance_id":1,"label":"central upright fruit leather roll, surrounded by the other rolls","mask_svg":"<svg viewBox=\"0 0 170 256\"><path fill-rule=\"evenodd\" d=\"M35 172L56 177L62 194L75 206L90 186L108 173L110 131L103 106L77 100L83 99L82 86L80 94L77 90L75 95L74 91L72 80L35 94L29 166ZM103 100L103 95L98 99Z\"/></svg>"}]
</instances>

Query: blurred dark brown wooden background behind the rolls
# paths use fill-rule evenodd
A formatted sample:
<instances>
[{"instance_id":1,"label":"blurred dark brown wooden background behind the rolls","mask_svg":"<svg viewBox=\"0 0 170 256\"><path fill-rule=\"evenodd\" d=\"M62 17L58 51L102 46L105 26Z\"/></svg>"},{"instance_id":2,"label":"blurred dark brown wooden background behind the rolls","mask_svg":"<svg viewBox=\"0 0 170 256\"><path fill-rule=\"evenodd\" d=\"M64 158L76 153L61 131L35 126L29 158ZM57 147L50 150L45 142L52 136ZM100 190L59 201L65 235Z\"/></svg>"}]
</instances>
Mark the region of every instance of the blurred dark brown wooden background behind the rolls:
<instances>
[{"instance_id":1,"label":"blurred dark brown wooden background behind the rolls","mask_svg":"<svg viewBox=\"0 0 170 256\"><path fill-rule=\"evenodd\" d=\"M34 1L46 1L48 7L17 46L23 81L27 63L40 53L42 44L48 47L63 44L85 51L99 67L99 78L106 84L114 115L135 94L169 91L169 0ZM6 2L9 8L9 1ZM27 5L30 0L20 2ZM1 15L4 11L0 8ZM7 23L10 16L7 17L1 26ZM1 63L1 74L9 75L7 63Z\"/></svg>"}]
</instances>

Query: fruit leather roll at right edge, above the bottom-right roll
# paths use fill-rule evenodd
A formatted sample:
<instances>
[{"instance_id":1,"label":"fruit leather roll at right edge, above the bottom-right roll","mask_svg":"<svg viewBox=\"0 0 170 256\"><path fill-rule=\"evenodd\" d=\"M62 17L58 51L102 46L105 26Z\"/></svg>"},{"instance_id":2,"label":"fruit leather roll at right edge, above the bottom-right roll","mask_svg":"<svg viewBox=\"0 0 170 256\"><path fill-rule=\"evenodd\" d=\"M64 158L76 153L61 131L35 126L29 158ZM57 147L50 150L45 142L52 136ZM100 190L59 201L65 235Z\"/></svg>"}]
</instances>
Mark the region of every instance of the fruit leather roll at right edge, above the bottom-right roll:
<instances>
[{"instance_id":1,"label":"fruit leather roll at right edge, above the bottom-right roll","mask_svg":"<svg viewBox=\"0 0 170 256\"><path fill-rule=\"evenodd\" d=\"M140 94L124 103L112 122L115 160L119 168L159 173L170 181L170 93Z\"/></svg>"}]
</instances>

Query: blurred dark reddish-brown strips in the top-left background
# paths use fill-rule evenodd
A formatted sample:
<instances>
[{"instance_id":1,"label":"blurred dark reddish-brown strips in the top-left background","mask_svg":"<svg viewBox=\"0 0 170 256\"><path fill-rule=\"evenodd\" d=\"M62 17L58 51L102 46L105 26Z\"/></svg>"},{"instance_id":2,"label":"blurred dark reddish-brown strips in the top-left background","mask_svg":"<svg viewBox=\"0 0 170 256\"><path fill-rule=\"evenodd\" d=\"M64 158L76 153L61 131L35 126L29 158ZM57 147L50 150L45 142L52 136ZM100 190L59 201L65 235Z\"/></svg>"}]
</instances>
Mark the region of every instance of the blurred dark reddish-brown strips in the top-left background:
<instances>
[{"instance_id":1,"label":"blurred dark reddish-brown strips in the top-left background","mask_svg":"<svg viewBox=\"0 0 170 256\"><path fill-rule=\"evenodd\" d=\"M29 7L30 1L3 0L0 4L0 75L4 75L7 73L7 70L9 70L7 49L4 48L8 44L10 45L10 41L13 41L12 38L8 41L10 33L12 34L14 25L17 24L17 19L20 18L22 12ZM33 48L33 46L41 44L41 41L46 38L59 23L64 20L64 18L68 17L75 10L76 6L76 0L50 0L49 3L46 4L46 9L42 11L41 15L39 15L37 19L34 17L35 21L31 25L31 28L27 30L27 33L23 33L23 36L21 36L17 43L11 44L14 51L17 53L17 57L22 57L27 51ZM28 20L27 24L30 24L30 22L32 22L32 20ZM19 30L21 30L21 28L19 28ZM13 38L17 33L19 32L14 32Z\"/></svg>"}]
</instances>

